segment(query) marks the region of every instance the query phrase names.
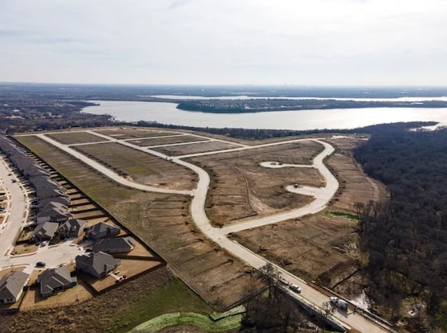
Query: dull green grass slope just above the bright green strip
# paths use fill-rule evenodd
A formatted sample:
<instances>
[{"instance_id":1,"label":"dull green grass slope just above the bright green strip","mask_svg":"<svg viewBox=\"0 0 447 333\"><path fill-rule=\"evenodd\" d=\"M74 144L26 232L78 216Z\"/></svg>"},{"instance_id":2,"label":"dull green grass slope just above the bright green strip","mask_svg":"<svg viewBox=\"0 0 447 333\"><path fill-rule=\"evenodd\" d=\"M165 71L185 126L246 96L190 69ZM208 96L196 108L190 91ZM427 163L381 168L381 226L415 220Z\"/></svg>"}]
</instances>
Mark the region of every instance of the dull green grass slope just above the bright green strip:
<instances>
[{"instance_id":1,"label":"dull green grass slope just above the bright green strip","mask_svg":"<svg viewBox=\"0 0 447 333\"><path fill-rule=\"evenodd\" d=\"M177 311L191 311L196 315L207 317L206 314L212 309L182 281L173 278L167 286L157 289L150 295L140 295L125 309L118 310L110 332L127 332L145 320Z\"/></svg>"}]
</instances>

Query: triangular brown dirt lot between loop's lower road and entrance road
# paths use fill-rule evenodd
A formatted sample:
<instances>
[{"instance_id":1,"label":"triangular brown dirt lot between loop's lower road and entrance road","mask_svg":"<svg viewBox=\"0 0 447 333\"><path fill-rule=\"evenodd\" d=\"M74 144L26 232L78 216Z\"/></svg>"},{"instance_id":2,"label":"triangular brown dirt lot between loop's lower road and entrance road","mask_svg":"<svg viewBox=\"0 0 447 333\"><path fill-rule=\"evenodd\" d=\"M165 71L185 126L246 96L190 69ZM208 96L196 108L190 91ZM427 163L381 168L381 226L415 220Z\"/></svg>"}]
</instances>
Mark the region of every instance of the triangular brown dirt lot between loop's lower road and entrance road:
<instances>
[{"instance_id":1,"label":"triangular brown dirt lot between loop's lower road and entrance road","mask_svg":"<svg viewBox=\"0 0 447 333\"><path fill-rule=\"evenodd\" d=\"M307 281L330 286L332 279L353 267L356 221L323 213L234 235L237 242Z\"/></svg>"}]
</instances>

